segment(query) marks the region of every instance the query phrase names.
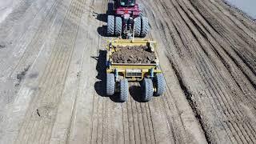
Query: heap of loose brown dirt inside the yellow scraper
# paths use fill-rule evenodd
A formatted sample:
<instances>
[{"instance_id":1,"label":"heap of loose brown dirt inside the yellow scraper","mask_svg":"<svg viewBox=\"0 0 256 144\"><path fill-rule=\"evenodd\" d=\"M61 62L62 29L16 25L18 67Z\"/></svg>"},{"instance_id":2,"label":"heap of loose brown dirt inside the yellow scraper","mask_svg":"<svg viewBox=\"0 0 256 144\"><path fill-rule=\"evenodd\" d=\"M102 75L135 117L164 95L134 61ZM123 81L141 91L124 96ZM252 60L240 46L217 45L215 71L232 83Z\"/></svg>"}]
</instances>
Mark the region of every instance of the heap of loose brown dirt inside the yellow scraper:
<instances>
[{"instance_id":1,"label":"heap of loose brown dirt inside the yellow scraper","mask_svg":"<svg viewBox=\"0 0 256 144\"><path fill-rule=\"evenodd\" d=\"M114 63L154 63L155 54L147 46L116 46L112 54Z\"/></svg>"}]
</instances>

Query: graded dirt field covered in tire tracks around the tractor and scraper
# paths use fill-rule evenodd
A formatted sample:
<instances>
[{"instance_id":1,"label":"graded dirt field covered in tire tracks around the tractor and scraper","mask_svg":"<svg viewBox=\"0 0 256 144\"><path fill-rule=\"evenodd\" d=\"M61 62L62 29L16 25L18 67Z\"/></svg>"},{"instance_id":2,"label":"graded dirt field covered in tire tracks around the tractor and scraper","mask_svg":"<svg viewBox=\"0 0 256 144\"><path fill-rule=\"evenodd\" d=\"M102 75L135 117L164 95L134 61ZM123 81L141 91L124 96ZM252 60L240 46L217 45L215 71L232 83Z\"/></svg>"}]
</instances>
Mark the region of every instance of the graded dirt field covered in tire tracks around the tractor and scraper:
<instances>
[{"instance_id":1,"label":"graded dirt field covered in tire tracks around the tractor and scraper","mask_svg":"<svg viewBox=\"0 0 256 144\"><path fill-rule=\"evenodd\" d=\"M256 143L256 25L221 0L141 0L166 93L104 94L107 0L18 0L0 23L0 143ZM10 13L10 14L9 14Z\"/></svg>"}]
</instances>

